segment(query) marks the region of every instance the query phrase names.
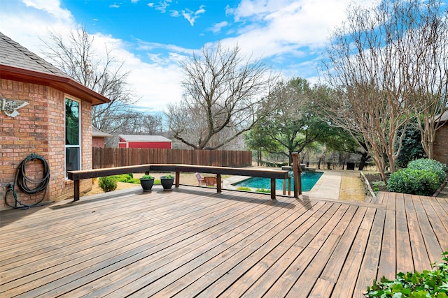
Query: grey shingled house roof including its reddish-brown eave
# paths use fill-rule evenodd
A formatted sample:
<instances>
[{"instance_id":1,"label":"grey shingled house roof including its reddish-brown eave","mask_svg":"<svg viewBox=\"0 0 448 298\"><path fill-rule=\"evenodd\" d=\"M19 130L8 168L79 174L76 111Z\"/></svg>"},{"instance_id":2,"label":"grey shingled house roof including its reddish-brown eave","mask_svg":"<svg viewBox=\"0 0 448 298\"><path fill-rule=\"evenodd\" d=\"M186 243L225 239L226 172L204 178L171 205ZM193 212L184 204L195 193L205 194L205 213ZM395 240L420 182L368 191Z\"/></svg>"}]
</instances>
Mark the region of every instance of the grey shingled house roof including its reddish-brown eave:
<instances>
[{"instance_id":1,"label":"grey shingled house roof including its reddish-brown eave","mask_svg":"<svg viewBox=\"0 0 448 298\"><path fill-rule=\"evenodd\" d=\"M41 84L64 91L92 105L109 103L109 99L76 82L33 52L0 32L0 78Z\"/></svg>"}]
</instances>

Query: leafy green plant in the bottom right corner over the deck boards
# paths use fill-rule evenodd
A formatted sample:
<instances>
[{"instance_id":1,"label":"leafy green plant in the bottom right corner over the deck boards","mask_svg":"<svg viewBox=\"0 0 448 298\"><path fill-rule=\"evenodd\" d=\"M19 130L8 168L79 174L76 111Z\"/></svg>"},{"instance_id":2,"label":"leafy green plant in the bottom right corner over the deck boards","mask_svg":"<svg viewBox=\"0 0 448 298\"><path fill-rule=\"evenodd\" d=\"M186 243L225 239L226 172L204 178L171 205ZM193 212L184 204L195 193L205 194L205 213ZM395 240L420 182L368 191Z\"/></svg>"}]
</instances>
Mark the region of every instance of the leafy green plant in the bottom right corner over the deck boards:
<instances>
[{"instance_id":1,"label":"leafy green plant in the bottom right corner over the deck boards","mask_svg":"<svg viewBox=\"0 0 448 298\"><path fill-rule=\"evenodd\" d=\"M384 276L381 280L373 281L367 287L365 297L448 297L448 251L442 253L444 262L432 270L423 270L421 273L398 273L395 281Z\"/></svg>"}]
</instances>

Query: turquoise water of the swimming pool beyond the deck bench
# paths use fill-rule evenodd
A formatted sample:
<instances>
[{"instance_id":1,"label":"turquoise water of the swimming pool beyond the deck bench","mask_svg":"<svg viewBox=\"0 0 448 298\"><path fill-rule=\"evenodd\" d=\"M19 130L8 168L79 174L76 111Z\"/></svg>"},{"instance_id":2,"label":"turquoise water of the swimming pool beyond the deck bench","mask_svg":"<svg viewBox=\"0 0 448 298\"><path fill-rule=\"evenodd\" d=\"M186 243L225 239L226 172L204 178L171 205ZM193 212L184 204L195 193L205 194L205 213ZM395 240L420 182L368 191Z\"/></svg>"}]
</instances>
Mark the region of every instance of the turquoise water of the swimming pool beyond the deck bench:
<instances>
[{"instance_id":1,"label":"turquoise water of the swimming pool beyond the deck bench","mask_svg":"<svg viewBox=\"0 0 448 298\"><path fill-rule=\"evenodd\" d=\"M302 172L302 191L311 191L314 184L321 178L323 172ZM292 175L291 175L292 177ZM243 181L239 181L234 186L244 186L251 188L265 188L271 189L271 179L251 177ZM275 188L279 191L283 189L283 179L276 179ZM286 188L288 188L288 182L286 182ZM291 179L291 190L293 190L293 178Z\"/></svg>"}]
</instances>

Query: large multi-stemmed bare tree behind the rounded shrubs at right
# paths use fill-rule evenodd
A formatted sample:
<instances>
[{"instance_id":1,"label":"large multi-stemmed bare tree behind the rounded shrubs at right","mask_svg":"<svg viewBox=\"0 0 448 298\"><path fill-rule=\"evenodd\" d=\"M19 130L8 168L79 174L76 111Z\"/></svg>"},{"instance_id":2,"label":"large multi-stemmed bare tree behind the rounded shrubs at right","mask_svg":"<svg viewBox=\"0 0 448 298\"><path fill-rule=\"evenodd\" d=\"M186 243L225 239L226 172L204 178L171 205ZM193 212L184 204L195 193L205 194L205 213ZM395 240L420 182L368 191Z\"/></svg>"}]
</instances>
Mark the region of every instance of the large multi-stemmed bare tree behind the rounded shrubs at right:
<instances>
[{"instance_id":1,"label":"large multi-stemmed bare tree behind the rounded shrubs at right","mask_svg":"<svg viewBox=\"0 0 448 298\"><path fill-rule=\"evenodd\" d=\"M384 181L387 164L395 172L407 121L421 107L412 72L421 54L415 52L414 33L426 17L425 5L419 0L383 0L372 9L353 5L328 47L328 81L339 93L321 100L321 111L332 124L363 136Z\"/></svg>"}]
</instances>

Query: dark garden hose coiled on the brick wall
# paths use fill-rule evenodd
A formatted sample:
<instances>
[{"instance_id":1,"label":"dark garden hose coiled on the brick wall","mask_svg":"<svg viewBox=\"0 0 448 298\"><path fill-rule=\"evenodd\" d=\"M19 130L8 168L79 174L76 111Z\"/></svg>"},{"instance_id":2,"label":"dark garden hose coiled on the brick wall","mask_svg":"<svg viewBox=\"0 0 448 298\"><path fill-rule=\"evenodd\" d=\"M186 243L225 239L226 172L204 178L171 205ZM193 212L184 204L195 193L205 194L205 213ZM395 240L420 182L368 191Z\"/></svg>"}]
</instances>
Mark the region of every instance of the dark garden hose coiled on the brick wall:
<instances>
[{"instance_id":1,"label":"dark garden hose coiled on the brick wall","mask_svg":"<svg viewBox=\"0 0 448 298\"><path fill-rule=\"evenodd\" d=\"M43 167L43 177L41 179L32 179L27 177L26 168L27 163L29 161L38 160L41 161ZM45 198L45 194L47 193L47 186L50 182L50 167L48 166L47 161L43 156L31 154L27 156L22 162L20 162L19 166L15 170L15 178L13 185L8 184L6 187L8 191L5 194L5 202L9 207L12 208L23 208L23 207L36 207L40 202L42 202L43 198ZM27 195L36 195L41 191L44 191L42 198L36 199L36 202L32 204L25 204L20 202L17 198L17 193L14 190L15 185L20 188L20 191L26 193ZM31 187L32 186L32 187ZM14 197L13 201L8 201L8 193L12 192Z\"/></svg>"}]
</instances>

